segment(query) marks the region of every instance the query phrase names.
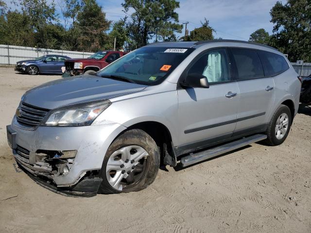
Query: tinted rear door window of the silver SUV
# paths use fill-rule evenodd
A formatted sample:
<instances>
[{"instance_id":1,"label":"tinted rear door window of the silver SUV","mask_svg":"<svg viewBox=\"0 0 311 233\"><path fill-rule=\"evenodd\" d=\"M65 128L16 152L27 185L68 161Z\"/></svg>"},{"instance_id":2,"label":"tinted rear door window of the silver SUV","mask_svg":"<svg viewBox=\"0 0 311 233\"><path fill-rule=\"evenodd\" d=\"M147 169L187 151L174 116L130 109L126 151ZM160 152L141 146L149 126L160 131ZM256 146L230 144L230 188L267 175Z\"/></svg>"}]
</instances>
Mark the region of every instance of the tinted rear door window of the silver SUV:
<instances>
[{"instance_id":1,"label":"tinted rear door window of the silver SUV","mask_svg":"<svg viewBox=\"0 0 311 233\"><path fill-rule=\"evenodd\" d=\"M256 50L231 49L236 63L238 80L263 78L263 67Z\"/></svg>"}]
</instances>

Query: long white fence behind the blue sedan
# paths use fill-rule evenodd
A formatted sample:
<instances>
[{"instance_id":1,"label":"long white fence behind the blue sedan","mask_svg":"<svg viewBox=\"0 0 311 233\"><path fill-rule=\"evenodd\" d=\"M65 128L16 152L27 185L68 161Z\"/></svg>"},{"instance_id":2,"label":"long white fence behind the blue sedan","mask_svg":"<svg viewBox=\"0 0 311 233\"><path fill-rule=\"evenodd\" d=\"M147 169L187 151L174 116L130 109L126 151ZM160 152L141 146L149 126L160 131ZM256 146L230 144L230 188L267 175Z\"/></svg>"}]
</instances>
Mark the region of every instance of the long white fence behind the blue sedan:
<instances>
[{"instance_id":1,"label":"long white fence behind the blue sedan","mask_svg":"<svg viewBox=\"0 0 311 233\"><path fill-rule=\"evenodd\" d=\"M71 58L87 58L93 53L68 50L49 50L13 45L0 45L0 65L15 65L20 60L35 59L46 54L58 54Z\"/></svg>"}]
</instances>

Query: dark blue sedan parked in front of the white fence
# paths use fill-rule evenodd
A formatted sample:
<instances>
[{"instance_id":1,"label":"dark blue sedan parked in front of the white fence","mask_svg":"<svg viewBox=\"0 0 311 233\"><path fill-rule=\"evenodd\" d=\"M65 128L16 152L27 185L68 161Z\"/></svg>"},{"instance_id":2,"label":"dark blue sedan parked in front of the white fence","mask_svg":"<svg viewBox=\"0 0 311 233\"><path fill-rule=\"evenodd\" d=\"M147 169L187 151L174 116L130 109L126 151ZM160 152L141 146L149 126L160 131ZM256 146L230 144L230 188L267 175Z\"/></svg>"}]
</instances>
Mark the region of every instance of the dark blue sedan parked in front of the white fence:
<instances>
[{"instance_id":1,"label":"dark blue sedan parked in front of the white fence","mask_svg":"<svg viewBox=\"0 0 311 233\"><path fill-rule=\"evenodd\" d=\"M30 75L36 74L62 74L64 62L70 57L62 55L44 55L34 60L19 61L16 64L15 70Z\"/></svg>"}]
</instances>

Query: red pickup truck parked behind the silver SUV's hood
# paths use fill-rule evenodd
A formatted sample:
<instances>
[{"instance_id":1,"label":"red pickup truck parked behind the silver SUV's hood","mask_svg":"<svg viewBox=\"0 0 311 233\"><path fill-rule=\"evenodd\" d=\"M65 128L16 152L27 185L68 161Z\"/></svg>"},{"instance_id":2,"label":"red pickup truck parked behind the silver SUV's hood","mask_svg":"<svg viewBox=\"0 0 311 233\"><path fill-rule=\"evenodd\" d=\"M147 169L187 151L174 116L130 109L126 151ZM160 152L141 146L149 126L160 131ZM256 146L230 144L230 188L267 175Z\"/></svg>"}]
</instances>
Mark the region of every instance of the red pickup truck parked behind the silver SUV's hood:
<instances>
[{"instance_id":1,"label":"red pickup truck parked behind the silver SUV's hood","mask_svg":"<svg viewBox=\"0 0 311 233\"><path fill-rule=\"evenodd\" d=\"M63 73L63 77L95 73L125 54L126 52L121 51L99 51L89 58L65 60L65 72Z\"/></svg>"}]
</instances>

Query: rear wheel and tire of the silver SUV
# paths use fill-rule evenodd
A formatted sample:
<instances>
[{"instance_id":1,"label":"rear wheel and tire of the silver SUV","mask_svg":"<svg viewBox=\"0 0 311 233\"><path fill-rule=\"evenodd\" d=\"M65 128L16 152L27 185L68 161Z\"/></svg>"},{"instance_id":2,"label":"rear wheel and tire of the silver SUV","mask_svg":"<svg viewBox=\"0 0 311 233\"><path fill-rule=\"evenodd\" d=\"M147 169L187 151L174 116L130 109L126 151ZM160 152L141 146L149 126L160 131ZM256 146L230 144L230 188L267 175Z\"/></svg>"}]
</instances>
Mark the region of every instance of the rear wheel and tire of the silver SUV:
<instances>
[{"instance_id":1,"label":"rear wheel and tire of the silver SUV","mask_svg":"<svg viewBox=\"0 0 311 233\"><path fill-rule=\"evenodd\" d=\"M282 116L284 116L283 120ZM282 124L280 124L281 122ZM292 124L291 110L286 105L281 104L276 109L276 112L274 113L274 115L271 118L271 121L268 124L266 142L270 146L278 146L282 144L285 141L288 133L290 132L291 124Z\"/></svg>"}]
</instances>

